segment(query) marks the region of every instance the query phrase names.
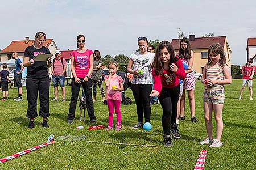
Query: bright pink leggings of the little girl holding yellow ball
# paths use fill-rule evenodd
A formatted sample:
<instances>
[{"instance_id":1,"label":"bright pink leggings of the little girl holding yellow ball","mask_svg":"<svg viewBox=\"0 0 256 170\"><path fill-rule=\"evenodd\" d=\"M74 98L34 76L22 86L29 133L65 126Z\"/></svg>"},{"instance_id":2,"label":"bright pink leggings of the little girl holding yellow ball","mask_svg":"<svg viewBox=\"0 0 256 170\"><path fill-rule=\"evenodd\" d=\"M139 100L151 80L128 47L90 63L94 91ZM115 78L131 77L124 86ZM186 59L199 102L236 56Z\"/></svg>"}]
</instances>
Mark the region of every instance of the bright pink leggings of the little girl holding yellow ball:
<instances>
[{"instance_id":1,"label":"bright pink leggings of the little girl holding yellow ball","mask_svg":"<svg viewBox=\"0 0 256 170\"><path fill-rule=\"evenodd\" d=\"M107 100L108 108L109 108L109 126L113 126L113 114L114 114L114 106L115 106L115 114L117 114L117 125L121 126L121 111L120 105L121 101L119 100Z\"/></svg>"}]
</instances>

